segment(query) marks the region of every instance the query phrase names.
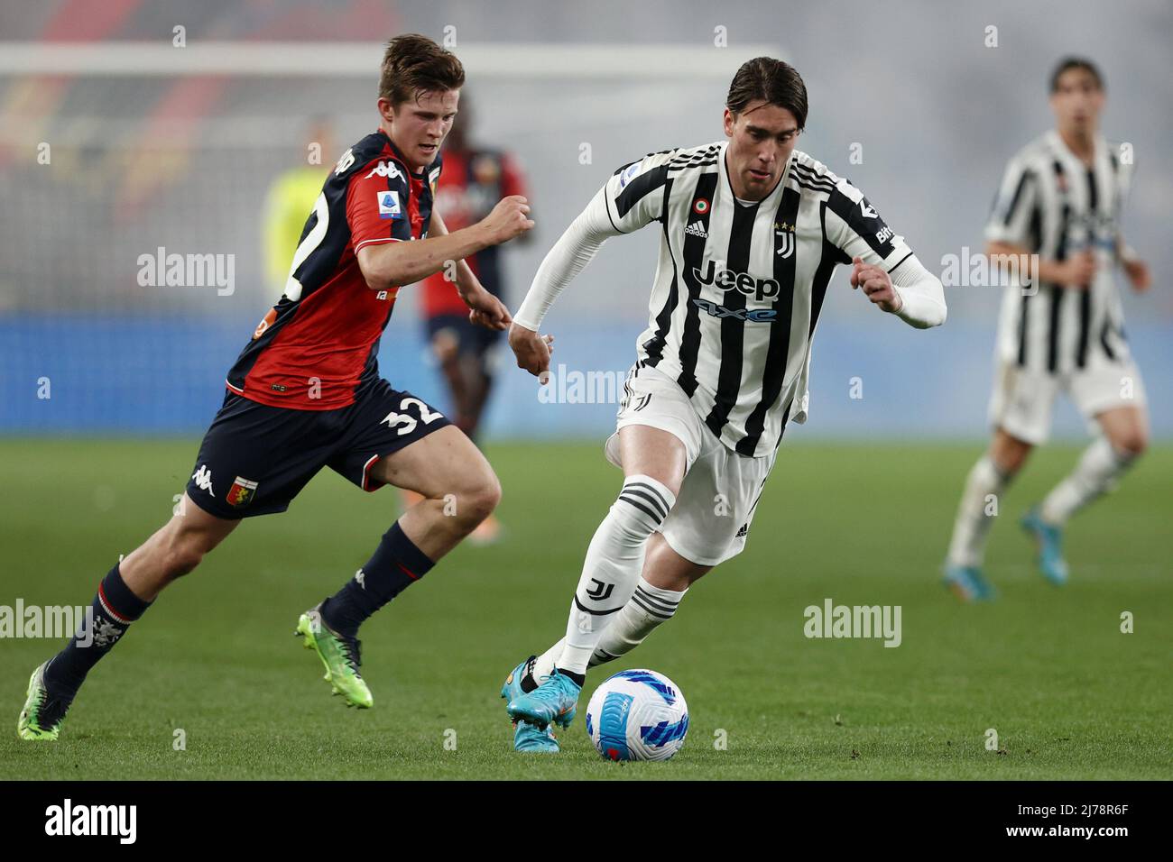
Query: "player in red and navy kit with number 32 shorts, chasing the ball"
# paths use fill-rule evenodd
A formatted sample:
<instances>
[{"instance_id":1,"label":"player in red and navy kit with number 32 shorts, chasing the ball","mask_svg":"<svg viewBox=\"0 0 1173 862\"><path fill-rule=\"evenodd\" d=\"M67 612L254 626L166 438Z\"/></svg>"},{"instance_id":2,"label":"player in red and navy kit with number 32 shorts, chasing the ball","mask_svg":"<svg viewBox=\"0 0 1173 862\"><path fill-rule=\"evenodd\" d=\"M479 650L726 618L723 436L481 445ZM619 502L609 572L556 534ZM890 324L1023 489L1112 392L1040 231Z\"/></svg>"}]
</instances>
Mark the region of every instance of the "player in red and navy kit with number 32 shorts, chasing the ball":
<instances>
[{"instance_id":1,"label":"player in red and navy kit with number 32 shorts, chasing the ball","mask_svg":"<svg viewBox=\"0 0 1173 862\"><path fill-rule=\"evenodd\" d=\"M297 632L350 706L369 707L359 625L494 509L501 488L473 442L422 399L379 375L379 339L399 285L455 267L469 319L491 330L509 312L463 258L528 231L526 198L509 196L448 232L433 208L443 142L460 101L460 61L420 35L393 39L379 83L379 129L327 177L285 292L229 371L177 514L103 578L83 626L29 680L22 739L56 739L86 674L169 583L190 572L242 518L285 511L323 468L364 490L422 498L388 529L341 590L306 611ZM454 495L454 496L453 496Z\"/></svg>"}]
</instances>

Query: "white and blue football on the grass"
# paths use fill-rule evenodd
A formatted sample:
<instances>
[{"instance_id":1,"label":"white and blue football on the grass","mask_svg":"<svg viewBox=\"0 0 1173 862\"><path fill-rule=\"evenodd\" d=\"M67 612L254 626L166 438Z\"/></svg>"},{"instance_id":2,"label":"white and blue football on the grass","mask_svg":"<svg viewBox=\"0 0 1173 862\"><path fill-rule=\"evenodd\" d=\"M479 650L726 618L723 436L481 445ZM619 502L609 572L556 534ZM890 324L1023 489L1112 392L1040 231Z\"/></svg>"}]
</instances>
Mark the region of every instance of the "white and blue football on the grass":
<instances>
[{"instance_id":1,"label":"white and blue football on the grass","mask_svg":"<svg viewBox=\"0 0 1173 862\"><path fill-rule=\"evenodd\" d=\"M687 733L684 694L656 671L609 677L586 706L586 734L608 760L667 760L684 746Z\"/></svg>"}]
</instances>

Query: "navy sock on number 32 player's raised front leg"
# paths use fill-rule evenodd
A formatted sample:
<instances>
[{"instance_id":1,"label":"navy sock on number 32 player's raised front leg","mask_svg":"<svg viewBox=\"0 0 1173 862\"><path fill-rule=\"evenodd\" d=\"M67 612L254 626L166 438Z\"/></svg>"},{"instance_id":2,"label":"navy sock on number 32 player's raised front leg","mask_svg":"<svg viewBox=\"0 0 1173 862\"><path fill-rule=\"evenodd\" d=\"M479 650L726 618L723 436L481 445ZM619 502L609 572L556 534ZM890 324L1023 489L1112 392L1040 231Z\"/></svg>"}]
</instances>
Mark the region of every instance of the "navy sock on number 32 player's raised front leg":
<instances>
[{"instance_id":1,"label":"navy sock on number 32 player's raised front leg","mask_svg":"<svg viewBox=\"0 0 1173 862\"><path fill-rule=\"evenodd\" d=\"M396 521L366 565L321 605L321 618L339 634L353 638L377 610L428 573L434 563L400 529Z\"/></svg>"}]
</instances>

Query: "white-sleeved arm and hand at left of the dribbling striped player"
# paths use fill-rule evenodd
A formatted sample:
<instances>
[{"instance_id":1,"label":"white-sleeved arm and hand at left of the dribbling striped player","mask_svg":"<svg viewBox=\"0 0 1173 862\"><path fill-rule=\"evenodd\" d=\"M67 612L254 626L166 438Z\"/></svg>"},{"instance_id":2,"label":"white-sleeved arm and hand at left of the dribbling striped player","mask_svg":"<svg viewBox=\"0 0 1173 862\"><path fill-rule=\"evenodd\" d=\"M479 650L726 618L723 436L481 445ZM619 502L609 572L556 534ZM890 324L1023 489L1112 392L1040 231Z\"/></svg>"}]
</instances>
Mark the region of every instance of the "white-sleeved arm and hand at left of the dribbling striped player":
<instances>
[{"instance_id":1,"label":"white-sleeved arm and hand at left of the dribbling striped player","mask_svg":"<svg viewBox=\"0 0 1173 862\"><path fill-rule=\"evenodd\" d=\"M591 262L608 237L622 232L608 217L604 194L605 190L601 190L595 195L547 253L509 327L509 347L517 358L517 367L540 380L544 381L550 369L550 345L554 341L552 335L537 334L542 320L554 300Z\"/></svg>"}]
</instances>

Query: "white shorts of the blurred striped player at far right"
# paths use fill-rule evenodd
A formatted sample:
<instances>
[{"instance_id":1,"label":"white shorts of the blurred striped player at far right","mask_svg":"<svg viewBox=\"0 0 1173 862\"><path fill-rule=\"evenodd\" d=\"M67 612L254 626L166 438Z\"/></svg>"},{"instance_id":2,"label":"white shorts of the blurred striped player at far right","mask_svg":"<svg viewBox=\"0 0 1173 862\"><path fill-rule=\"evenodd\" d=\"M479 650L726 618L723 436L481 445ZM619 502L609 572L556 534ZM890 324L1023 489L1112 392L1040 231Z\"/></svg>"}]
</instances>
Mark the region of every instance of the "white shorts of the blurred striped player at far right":
<instances>
[{"instance_id":1,"label":"white shorts of the blurred striped player at far right","mask_svg":"<svg viewBox=\"0 0 1173 862\"><path fill-rule=\"evenodd\" d=\"M990 423L1011 436L1038 446L1051 435L1055 398L1065 392L1098 432L1096 416L1113 407L1144 407L1145 384L1132 360L1103 364L1065 374L1023 368L1013 362L998 366L990 396Z\"/></svg>"}]
</instances>

